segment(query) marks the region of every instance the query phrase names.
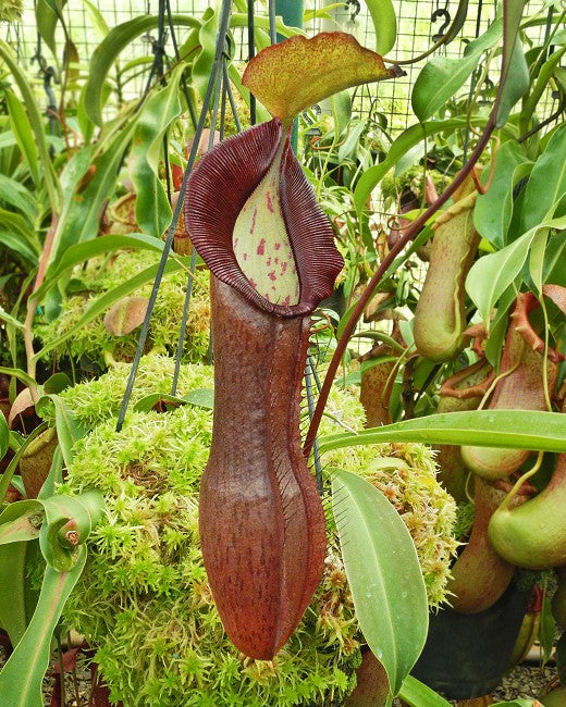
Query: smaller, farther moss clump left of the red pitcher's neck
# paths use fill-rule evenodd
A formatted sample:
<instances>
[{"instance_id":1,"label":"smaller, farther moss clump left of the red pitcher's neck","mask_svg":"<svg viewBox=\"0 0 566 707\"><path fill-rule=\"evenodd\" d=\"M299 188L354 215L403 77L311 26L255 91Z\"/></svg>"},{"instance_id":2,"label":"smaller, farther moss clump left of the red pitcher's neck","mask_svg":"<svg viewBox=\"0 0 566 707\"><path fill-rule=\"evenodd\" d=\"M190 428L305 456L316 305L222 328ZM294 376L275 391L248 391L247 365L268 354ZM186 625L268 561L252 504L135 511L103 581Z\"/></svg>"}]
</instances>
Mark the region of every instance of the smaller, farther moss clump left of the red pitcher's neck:
<instances>
[{"instance_id":1,"label":"smaller, farther moss clump left of the red pitcher's neck","mask_svg":"<svg viewBox=\"0 0 566 707\"><path fill-rule=\"evenodd\" d=\"M38 320L35 334L47 346L67 334L83 317L87 308L103 293L124 284L146 268L157 264L159 255L146 250L120 251L110 259L95 258L85 270L75 270L75 292L61 303L61 313L52 322ZM208 350L210 302L208 297L208 271L197 270L193 284L187 334L184 345L184 360L201 361ZM187 273L179 270L163 276L149 326L147 347L165 354L176 349L181 318L185 300ZM149 297L152 283L136 289L131 295ZM79 288L79 292L76 289ZM78 361L83 357L106 368L108 363L131 360L134 356L139 328L126 336L113 336L103 323L104 312L66 339L58 347L59 357L71 356Z\"/></svg>"}]
</instances>

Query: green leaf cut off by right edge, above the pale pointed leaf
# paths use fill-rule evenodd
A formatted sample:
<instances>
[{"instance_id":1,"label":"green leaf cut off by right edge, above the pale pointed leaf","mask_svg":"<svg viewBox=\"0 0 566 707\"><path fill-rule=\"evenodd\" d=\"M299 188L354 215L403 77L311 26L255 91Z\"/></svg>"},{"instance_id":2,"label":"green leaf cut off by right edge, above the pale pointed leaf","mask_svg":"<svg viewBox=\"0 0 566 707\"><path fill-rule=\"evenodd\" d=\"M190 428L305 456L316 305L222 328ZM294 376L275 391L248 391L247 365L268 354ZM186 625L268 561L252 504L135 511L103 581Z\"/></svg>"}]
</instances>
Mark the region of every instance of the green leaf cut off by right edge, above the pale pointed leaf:
<instances>
[{"instance_id":1,"label":"green leaf cut off by right edge, above the pale pointed leaf","mask_svg":"<svg viewBox=\"0 0 566 707\"><path fill-rule=\"evenodd\" d=\"M562 124L532 168L520 213L522 232L539 224L565 194L566 124Z\"/></svg>"}]
</instances>

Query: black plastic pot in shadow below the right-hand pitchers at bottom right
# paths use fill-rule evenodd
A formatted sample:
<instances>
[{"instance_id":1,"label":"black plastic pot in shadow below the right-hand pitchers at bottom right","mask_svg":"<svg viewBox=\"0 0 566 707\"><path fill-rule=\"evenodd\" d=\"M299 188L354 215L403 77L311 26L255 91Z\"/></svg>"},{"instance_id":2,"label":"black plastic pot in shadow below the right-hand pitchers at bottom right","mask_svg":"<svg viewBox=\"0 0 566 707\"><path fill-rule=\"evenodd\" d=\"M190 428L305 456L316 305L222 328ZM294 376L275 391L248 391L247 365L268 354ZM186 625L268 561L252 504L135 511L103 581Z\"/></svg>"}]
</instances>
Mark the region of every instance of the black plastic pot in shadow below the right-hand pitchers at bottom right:
<instances>
[{"instance_id":1,"label":"black plastic pot in shadow below the right-hand pitchers at bottom right","mask_svg":"<svg viewBox=\"0 0 566 707\"><path fill-rule=\"evenodd\" d=\"M443 609L430 617L424 649L413 675L450 699L493 692L509 667L531 592L510 586L480 613Z\"/></svg>"}]
</instances>

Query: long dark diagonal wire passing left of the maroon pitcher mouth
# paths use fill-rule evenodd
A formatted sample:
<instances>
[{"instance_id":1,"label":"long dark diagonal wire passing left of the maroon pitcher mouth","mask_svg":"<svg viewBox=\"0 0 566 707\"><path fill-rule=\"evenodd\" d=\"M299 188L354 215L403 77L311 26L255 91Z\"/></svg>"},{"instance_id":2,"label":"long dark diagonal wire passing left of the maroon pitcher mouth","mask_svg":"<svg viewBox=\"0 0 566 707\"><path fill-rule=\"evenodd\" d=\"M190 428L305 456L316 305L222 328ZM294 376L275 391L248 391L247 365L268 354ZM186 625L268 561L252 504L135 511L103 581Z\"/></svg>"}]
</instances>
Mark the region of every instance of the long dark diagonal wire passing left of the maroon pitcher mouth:
<instances>
[{"instance_id":1,"label":"long dark diagonal wire passing left of the maroon pitcher mouth","mask_svg":"<svg viewBox=\"0 0 566 707\"><path fill-rule=\"evenodd\" d=\"M157 299L157 294L159 292L159 287L161 285L161 280L163 278L163 273L165 270L167 261L169 258L169 252L171 250L171 246L173 244L173 237L175 235L175 230L179 223L179 219L181 216L181 209L183 208L183 202L185 200L185 193L187 188L187 182L188 182L188 175L190 174L190 171L193 170L193 166L196 161L197 157L197 151L198 151L198 146L200 142L200 138L202 136L202 129L205 127L205 122L207 119L208 114L208 109L210 107L210 101L212 99L212 95L214 91L214 86L217 84L217 78L219 75L219 71L222 64L222 61L224 61L224 48L225 48L225 41L226 41L226 35L227 35L227 29L229 29L229 22L230 22L230 14L231 14L231 9L232 9L232 1L231 0L223 0L222 1L222 10L221 10L221 16L220 16L220 26L219 26L219 32L218 32L218 37L217 37L217 47L214 51L214 60L212 62L212 66L210 70L210 76L208 79L208 85L207 85L207 90L205 94L205 99L202 101L202 108L200 110L200 116L198 119L198 124L195 133L195 139L193 141L193 147L190 148L190 154L188 158L188 163L187 163L187 169L185 171L185 175L183 177L183 183L181 185L181 188L179 190L179 198L177 202L175 204L175 210L173 212L173 219L171 221L171 225L169 226L169 232L165 238L165 243L163 245L163 251L161 253L161 260L159 261L158 270L156 273L156 280L153 282L153 287L151 289L151 295L149 296L149 301L147 305L147 312L146 312L146 318L144 320L144 324L142 325L142 332L139 334L139 339L137 343L137 348L136 352L134 356L134 360L132 362L132 369L130 371L130 375L127 379L127 384L126 384L126 389L124 392L124 397L122 399L122 406L120 408L120 413L118 415L118 422L116 422L116 432L120 432L122 430L122 426L124 424L126 411L127 411L127 406L130 402L130 398L132 397L132 390L134 389L134 383L136 380L137 375L137 370L139 368L139 361L142 359L142 354L144 351L144 347L146 345L147 340L147 334L149 331L149 322L151 319L151 314L153 313L153 308L156 305L156 299Z\"/></svg>"}]
</instances>

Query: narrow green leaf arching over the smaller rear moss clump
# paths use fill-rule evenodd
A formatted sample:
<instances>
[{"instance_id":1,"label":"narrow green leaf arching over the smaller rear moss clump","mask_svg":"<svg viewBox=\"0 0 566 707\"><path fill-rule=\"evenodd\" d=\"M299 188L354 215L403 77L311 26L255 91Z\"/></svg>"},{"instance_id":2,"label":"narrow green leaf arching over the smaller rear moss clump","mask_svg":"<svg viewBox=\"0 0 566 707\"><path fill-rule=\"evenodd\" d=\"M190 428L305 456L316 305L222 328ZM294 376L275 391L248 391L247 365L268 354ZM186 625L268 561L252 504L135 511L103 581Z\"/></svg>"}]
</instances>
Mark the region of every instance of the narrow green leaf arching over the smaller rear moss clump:
<instances>
[{"instance_id":1,"label":"narrow green leaf arching over the smaller rear moss clump","mask_svg":"<svg viewBox=\"0 0 566 707\"><path fill-rule=\"evenodd\" d=\"M163 241L153 236L147 236L143 233L128 233L127 236L100 236L86 243L76 244L65 250L65 252L52 263L41 287L36 292L38 301L41 301L46 293L53 287L62 275L69 273L75 265L86 262L90 258L96 258L103 253L119 250L120 248L136 248L140 250L163 249Z\"/></svg>"}]
</instances>

